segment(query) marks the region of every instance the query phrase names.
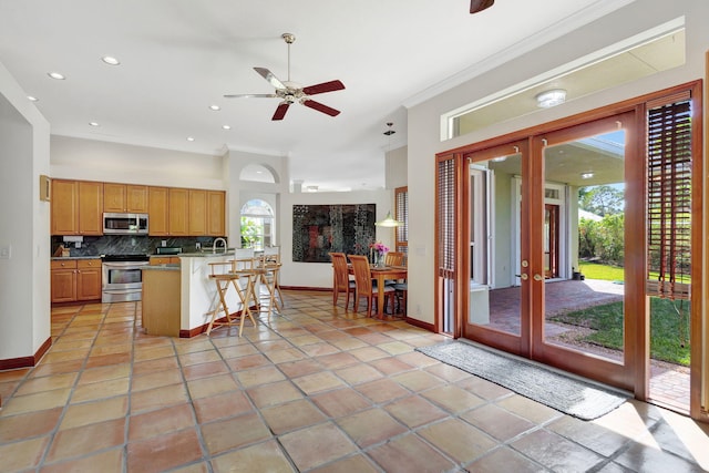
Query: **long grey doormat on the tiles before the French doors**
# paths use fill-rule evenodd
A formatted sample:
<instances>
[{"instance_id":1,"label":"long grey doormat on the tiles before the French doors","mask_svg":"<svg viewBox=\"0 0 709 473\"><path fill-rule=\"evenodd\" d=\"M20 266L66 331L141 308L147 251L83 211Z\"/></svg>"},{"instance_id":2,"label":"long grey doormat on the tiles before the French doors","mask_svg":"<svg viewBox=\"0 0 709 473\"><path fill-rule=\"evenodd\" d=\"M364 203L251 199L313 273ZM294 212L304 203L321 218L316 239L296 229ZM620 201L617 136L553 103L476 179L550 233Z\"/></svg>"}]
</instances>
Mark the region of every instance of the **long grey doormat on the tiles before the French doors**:
<instances>
[{"instance_id":1,"label":"long grey doormat on the tiles before the French doors","mask_svg":"<svg viewBox=\"0 0 709 473\"><path fill-rule=\"evenodd\" d=\"M419 347L417 351L586 421L607 414L630 398L534 362L461 341Z\"/></svg>"}]
</instances>

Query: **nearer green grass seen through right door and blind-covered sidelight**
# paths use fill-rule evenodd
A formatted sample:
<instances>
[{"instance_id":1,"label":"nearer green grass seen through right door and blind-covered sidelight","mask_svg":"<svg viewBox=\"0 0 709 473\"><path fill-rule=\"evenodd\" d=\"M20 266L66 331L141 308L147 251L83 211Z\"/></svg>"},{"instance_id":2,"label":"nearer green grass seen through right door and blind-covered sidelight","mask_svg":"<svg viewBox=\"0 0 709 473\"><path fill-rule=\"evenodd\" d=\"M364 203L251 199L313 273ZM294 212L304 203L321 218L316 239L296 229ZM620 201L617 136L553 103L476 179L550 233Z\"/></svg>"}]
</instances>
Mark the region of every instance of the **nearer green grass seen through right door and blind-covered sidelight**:
<instances>
[{"instance_id":1,"label":"nearer green grass seen through right door and blind-covered sidelight","mask_svg":"<svg viewBox=\"0 0 709 473\"><path fill-rule=\"evenodd\" d=\"M684 318L678 315L678 308ZM687 301L650 298L650 358L689 366L688 310ZM615 350L623 349L623 302L562 313L549 320L595 330L579 341Z\"/></svg>"}]
</instances>

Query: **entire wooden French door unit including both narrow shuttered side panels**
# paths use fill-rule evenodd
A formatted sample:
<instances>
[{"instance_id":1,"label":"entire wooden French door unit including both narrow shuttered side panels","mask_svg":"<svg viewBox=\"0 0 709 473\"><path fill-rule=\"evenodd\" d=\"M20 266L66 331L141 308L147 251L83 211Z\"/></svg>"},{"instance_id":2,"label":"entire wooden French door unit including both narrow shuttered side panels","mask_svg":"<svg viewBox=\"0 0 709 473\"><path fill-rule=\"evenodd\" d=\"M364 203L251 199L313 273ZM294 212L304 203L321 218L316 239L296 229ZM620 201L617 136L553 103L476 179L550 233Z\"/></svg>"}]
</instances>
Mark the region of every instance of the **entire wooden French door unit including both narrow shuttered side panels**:
<instances>
[{"instance_id":1,"label":"entire wooden French door unit including both narrow shuttered side panels","mask_svg":"<svg viewBox=\"0 0 709 473\"><path fill-rule=\"evenodd\" d=\"M436 155L436 330L708 421L701 85Z\"/></svg>"}]
</instances>

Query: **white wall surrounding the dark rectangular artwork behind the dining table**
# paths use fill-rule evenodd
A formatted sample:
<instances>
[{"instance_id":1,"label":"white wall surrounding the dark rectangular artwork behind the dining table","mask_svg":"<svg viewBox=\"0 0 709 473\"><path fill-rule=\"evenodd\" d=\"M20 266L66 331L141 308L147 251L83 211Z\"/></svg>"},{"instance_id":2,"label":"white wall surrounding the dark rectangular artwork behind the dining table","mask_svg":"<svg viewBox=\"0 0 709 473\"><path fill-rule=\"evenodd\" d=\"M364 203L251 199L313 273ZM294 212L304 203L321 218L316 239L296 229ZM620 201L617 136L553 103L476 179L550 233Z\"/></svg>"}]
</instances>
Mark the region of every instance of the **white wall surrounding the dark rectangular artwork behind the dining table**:
<instances>
[{"instance_id":1,"label":"white wall surrounding the dark rectangular artwork behind the dining table","mask_svg":"<svg viewBox=\"0 0 709 473\"><path fill-rule=\"evenodd\" d=\"M280 227L285 238L281 240L280 285L311 288L332 287L332 265L329 263L292 261L292 206L294 205L336 205L336 204L376 204L377 222L383 219L393 208L391 191L358 191L338 193L302 193L281 195ZM393 229L377 227L377 240L390 248L393 245Z\"/></svg>"}]
</instances>

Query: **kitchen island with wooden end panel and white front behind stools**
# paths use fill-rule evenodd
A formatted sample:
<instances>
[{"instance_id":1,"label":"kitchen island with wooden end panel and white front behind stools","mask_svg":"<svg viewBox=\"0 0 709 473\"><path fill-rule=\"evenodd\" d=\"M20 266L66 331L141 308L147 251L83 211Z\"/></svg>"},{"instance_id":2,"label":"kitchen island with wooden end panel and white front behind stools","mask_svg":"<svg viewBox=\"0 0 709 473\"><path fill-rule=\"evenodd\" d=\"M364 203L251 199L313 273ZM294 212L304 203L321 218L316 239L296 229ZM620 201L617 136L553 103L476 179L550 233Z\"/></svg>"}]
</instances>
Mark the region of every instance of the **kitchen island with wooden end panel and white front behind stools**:
<instances>
[{"instance_id":1,"label":"kitchen island with wooden end panel and white front behind stools","mask_svg":"<svg viewBox=\"0 0 709 473\"><path fill-rule=\"evenodd\" d=\"M219 308L216 284L209 275L226 273L237 251L183 253L179 265L143 268L143 327L148 335L194 337L206 331ZM225 265L213 265L225 263ZM225 295L232 313L242 310L236 290ZM224 313L217 315L217 318Z\"/></svg>"}]
</instances>

